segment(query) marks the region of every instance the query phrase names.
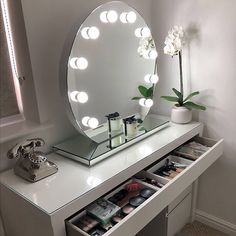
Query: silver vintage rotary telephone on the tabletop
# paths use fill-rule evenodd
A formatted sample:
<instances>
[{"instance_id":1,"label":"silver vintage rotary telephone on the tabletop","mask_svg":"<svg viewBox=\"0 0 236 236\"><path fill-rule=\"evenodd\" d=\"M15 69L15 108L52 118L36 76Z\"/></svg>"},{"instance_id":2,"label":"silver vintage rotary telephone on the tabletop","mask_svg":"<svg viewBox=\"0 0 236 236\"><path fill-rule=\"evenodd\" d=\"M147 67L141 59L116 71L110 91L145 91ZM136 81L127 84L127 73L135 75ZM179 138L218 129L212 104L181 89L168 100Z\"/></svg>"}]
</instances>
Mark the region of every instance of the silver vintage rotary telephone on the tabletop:
<instances>
[{"instance_id":1,"label":"silver vintage rotary telephone on the tabletop","mask_svg":"<svg viewBox=\"0 0 236 236\"><path fill-rule=\"evenodd\" d=\"M44 144L45 142L41 138L27 139L8 151L8 158L18 159L14 166L16 175L30 182L37 182L58 171L57 166L47 160L43 152L35 151L35 148Z\"/></svg>"}]
</instances>

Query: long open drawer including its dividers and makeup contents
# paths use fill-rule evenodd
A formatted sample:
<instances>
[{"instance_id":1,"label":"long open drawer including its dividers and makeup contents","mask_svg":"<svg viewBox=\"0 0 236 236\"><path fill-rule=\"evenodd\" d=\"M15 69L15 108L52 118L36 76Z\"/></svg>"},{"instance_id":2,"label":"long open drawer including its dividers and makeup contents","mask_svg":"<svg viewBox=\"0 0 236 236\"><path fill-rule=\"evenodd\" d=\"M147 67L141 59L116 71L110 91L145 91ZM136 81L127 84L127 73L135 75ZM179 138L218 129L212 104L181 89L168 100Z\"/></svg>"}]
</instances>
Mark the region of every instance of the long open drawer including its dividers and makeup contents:
<instances>
[{"instance_id":1,"label":"long open drawer including its dividers and makeup contents","mask_svg":"<svg viewBox=\"0 0 236 236\"><path fill-rule=\"evenodd\" d=\"M195 142L207 146L207 148L201 152L200 156L192 158L192 156L181 155L179 150L185 151L185 147L189 147L189 145L193 145L191 148L195 149ZM204 149L204 147L202 148ZM93 215L94 204L97 202L95 201L87 208L82 209L79 213L66 220L67 235L130 236L137 234L214 163L221 156L222 152L223 140L216 142L208 138L195 137L191 140L190 144L188 142L188 144L182 145L170 155L154 163L147 170L137 173L133 179L104 195L102 199L117 204L116 206L118 208L115 210L116 213L114 214L115 219L114 217L110 217L111 220L102 221L101 218L95 217ZM165 169L168 166L170 168ZM127 190L127 186L133 186L134 192L136 191L134 196L140 196L142 189L146 189L144 192L151 193L147 194L148 196L145 199L139 199L137 206L130 210L130 206L132 206L132 204L135 205L134 203L131 204L131 199L126 199L123 202L116 201L116 194ZM135 186L137 187L136 190ZM138 189L138 186L140 189ZM134 196L131 196L131 198ZM91 206L92 210L90 209ZM124 207L126 207L127 211L124 211ZM110 211L112 212L112 210ZM88 217L87 224L89 225L90 223L91 229L89 227L84 228L83 224L81 224L81 219L82 221L84 219L86 221L86 217ZM92 220L90 220L90 218L92 218ZM104 228L106 228L106 230ZM95 229L97 229L97 233L93 233Z\"/></svg>"}]
</instances>

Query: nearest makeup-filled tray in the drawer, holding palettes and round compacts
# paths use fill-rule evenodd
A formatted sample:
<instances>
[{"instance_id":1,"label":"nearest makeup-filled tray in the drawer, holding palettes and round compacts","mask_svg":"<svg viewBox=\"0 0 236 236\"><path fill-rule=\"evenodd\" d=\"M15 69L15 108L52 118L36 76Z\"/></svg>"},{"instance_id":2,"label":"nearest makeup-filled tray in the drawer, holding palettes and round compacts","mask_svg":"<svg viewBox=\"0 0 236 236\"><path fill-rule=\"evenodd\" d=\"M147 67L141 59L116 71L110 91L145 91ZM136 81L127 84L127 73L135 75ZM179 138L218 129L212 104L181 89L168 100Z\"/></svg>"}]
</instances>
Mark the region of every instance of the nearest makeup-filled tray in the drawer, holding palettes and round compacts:
<instances>
[{"instance_id":1,"label":"nearest makeup-filled tray in the drawer, holding palettes and round compacts","mask_svg":"<svg viewBox=\"0 0 236 236\"><path fill-rule=\"evenodd\" d=\"M67 234L73 236L78 235L79 232L86 236L104 235L159 189L139 179L132 178L70 217L66 221L69 226L67 227ZM105 204L102 205L99 201ZM97 216L103 215L101 212L103 210L98 209L97 205L99 204L104 210L106 206L109 205L108 207L110 207L107 211L110 215L106 220ZM116 210L114 210L115 208ZM114 210L113 213L112 210Z\"/></svg>"}]
</instances>

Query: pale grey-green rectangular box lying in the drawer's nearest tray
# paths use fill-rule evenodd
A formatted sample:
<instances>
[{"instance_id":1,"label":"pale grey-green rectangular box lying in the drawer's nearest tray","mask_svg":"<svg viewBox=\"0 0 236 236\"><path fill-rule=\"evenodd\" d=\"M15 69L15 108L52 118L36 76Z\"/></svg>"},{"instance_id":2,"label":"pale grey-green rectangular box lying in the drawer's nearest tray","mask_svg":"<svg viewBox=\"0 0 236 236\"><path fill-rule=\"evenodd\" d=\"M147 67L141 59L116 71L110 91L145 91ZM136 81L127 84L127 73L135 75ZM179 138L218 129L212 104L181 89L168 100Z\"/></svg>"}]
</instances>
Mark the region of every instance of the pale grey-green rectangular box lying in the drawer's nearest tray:
<instances>
[{"instance_id":1,"label":"pale grey-green rectangular box lying in the drawer's nearest tray","mask_svg":"<svg viewBox=\"0 0 236 236\"><path fill-rule=\"evenodd\" d=\"M87 207L87 213L102 224L107 224L119 210L120 207L106 199L99 199Z\"/></svg>"}]
</instances>

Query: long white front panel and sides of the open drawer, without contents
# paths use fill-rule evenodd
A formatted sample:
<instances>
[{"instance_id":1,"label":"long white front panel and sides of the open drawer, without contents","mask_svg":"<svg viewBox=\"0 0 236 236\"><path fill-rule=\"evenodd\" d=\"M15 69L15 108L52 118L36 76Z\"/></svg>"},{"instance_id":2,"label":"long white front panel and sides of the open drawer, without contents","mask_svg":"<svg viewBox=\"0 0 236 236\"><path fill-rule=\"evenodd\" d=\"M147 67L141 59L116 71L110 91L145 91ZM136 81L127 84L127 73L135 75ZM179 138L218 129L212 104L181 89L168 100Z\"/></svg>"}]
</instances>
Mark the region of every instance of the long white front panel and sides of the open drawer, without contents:
<instances>
[{"instance_id":1,"label":"long white front panel and sides of the open drawer, without contents","mask_svg":"<svg viewBox=\"0 0 236 236\"><path fill-rule=\"evenodd\" d=\"M196 137L196 141L207 145L209 149L198 159L189 163L188 167L172 180L165 181L163 178L163 181L165 182L163 182L164 186L162 188L159 189L157 187L153 187L152 185L146 185L146 183L143 182L143 185L155 189L156 192L139 207L123 218L119 223L114 225L109 231L104 233L104 236L134 236L165 207L175 200L176 197L178 197L189 185L191 185L223 153L223 140L217 142L208 138ZM153 175L149 173L149 171L146 172L146 174L149 176ZM159 178L159 180L161 179ZM117 190L119 190L119 188L117 188ZM109 196L110 195L107 195L108 198ZM75 215L69 220L66 220L67 235L89 236L89 234L83 232L73 224L76 217L78 216Z\"/></svg>"}]
</instances>

